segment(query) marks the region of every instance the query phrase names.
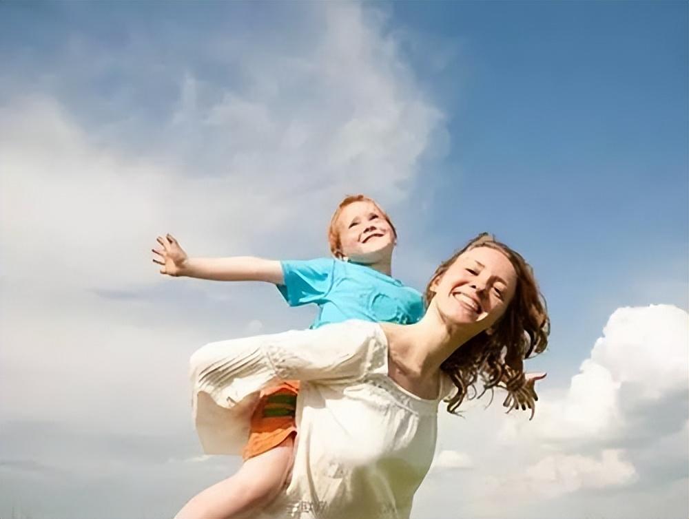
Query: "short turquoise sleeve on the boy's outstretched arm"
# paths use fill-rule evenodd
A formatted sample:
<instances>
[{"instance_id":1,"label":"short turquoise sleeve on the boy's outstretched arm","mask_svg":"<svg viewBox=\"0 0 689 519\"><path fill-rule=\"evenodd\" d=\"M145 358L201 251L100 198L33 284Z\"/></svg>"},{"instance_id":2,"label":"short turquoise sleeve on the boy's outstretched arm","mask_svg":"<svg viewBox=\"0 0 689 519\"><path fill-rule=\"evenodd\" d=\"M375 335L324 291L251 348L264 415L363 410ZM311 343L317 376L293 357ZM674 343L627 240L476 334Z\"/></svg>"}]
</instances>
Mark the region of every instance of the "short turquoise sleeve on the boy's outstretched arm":
<instances>
[{"instance_id":1,"label":"short turquoise sleeve on the boy's outstretched arm","mask_svg":"<svg viewBox=\"0 0 689 519\"><path fill-rule=\"evenodd\" d=\"M277 287L289 306L318 304L333 286L335 260L332 258L280 262L280 264L285 281Z\"/></svg>"}]
</instances>

